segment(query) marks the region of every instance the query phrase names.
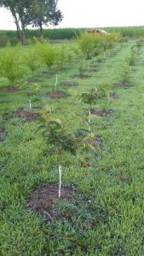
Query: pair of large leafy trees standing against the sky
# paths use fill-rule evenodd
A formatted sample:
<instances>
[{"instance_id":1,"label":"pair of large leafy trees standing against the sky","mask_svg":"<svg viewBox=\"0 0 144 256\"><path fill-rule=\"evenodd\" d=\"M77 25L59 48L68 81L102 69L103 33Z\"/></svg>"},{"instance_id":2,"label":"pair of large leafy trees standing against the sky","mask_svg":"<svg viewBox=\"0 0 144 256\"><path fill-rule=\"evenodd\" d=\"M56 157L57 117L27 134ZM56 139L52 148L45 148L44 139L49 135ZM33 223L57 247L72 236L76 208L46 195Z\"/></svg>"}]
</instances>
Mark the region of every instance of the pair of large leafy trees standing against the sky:
<instances>
[{"instance_id":1,"label":"pair of large leafy trees standing against the sky","mask_svg":"<svg viewBox=\"0 0 144 256\"><path fill-rule=\"evenodd\" d=\"M57 0L0 0L0 7L9 9L14 18L18 38L26 44L26 26L40 27L43 25L58 25L62 20L60 10L57 9Z\"/></svg>"}]
</instances>

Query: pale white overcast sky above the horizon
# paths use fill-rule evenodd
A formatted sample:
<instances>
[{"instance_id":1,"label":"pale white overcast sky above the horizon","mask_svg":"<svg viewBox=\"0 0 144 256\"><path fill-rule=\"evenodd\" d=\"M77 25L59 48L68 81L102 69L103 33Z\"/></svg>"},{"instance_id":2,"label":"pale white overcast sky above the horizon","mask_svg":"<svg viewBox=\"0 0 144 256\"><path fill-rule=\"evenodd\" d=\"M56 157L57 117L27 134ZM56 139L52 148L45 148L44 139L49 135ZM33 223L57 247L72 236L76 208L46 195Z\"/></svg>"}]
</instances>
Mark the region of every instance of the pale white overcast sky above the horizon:
<instances>
[{"instance_id":1,"label":"pale white overcast sky above the horizon","mask_svg":"<svg viewBox=\"0 0 144 256\"><path fill-rule=\"evenodd\" d=\"M59 0L64 19L58 27L144 26L144 0ZM15 29L0 9L0 29Z\"/></svg>"}]
</instances>

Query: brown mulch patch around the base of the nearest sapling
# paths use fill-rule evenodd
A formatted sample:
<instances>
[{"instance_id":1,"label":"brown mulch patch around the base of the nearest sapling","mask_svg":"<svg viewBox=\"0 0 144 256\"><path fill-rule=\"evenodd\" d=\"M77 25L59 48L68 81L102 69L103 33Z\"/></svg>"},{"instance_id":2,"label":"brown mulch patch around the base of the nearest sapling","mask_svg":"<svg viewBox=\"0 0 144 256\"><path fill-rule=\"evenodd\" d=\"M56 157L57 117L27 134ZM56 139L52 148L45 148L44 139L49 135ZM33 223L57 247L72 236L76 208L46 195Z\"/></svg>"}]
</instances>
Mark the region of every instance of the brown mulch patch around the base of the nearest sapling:
<instances>
[{"instance_id":1,"label":"brown mulch patch around the base of the nearest sapling","mask_svg":"<svg viewBox=\"0 0 144 256\"><path fill-rule=\"evenodd\" d=\"M63 218L62 212L56 206L58 202L74 201L72 186L61 188L61 197L58 197L58 184L48 184L43 187L38 187L32 191L30 198L26 201L26 208L33 212L46 214L50 220Z\"/></svg>"}]
</instances>

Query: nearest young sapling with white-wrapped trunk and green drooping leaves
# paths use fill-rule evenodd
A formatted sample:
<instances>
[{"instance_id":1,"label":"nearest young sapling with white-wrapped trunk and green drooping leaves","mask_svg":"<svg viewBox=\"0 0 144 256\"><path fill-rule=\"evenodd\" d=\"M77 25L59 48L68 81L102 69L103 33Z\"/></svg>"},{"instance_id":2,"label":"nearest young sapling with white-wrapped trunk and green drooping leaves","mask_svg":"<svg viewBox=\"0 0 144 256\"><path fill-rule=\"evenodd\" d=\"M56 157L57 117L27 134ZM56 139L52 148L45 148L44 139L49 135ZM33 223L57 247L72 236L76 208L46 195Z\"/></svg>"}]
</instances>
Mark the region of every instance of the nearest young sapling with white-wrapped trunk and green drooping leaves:
<instances>
[{"instance_id":1,"label":"nearest young sapling with white-wrapped trunk and green drooping leaves","mask_svg":"<svg viewBox=\"0 0 144 256\"><path fill-rule=\"evenodd\" d=\"M76 155L77 149L82 144L86 144L85 140L88 140L89 137L84 137L80 140L77 139L75 133L72 134L68 131L67 125L62 124L60 119L53 117L49 105L43 111L39 111L42 114L42 119L40 119L41 125L38 126L38 131L43 134L43 137L46 139L46 142L51 148L54 149L54 152L58 154L58 171L59 171L59 191L58 197L61 197L61 177L62 177L62 156L64 152L69 152L70 154ZM90 137L91 138L91 137ZM92 146L87 143L89 148ZM92 148L93 149L93 148ZM51 151L52 152L52 151Z\"/></svg>"}]
</instances>

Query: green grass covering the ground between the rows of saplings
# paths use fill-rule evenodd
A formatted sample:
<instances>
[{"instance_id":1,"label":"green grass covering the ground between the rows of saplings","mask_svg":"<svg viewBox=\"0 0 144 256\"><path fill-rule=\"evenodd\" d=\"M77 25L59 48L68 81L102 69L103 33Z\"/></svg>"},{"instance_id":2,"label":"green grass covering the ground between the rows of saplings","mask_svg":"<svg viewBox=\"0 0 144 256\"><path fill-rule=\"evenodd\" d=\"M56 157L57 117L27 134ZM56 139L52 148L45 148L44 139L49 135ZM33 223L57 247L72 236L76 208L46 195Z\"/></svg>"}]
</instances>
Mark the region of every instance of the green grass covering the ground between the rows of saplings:
<instances>
[{"instance_id":1,"label":"green grass covering the ground between the rows of saplings","mask_svg":"<svg viewBox=\"0 0 144 256\"><path fill-rule=\"evenodd\" d=\"M50 75L48 67L28 71L19 90L0 80L0 255L144 255L144 46L135 56L135 66L130 66L129 83L120 82L134 44L131 40L111 54L107 50L106 58L100 54L96 61L87 61L88 70L83 71L87 79L72 78L78 74L79 57L66 62L58 71L57 90L70 94L63 98L48 96L55 90L55 68ZM28 52L29 47L22 51ZM91 65L95 70L89 72ZM30 111L32 82L41 86L41 96L37 101L32 97ZM78 86L67 88L63 82ZM108 94L92 105L97 110L91 119L95 150L79 148L74 156L63 153L65 195L55 203L58 213L49 213L43 200L37 206L34 191L45 201L50 184L57 193L59 157L37 132L38 119L19 111L34 114L41 112L37 107L49 104L70 132L87 129L89 107L81 95L100 84L108 84Z\"/></svg>"}]
</instances>

